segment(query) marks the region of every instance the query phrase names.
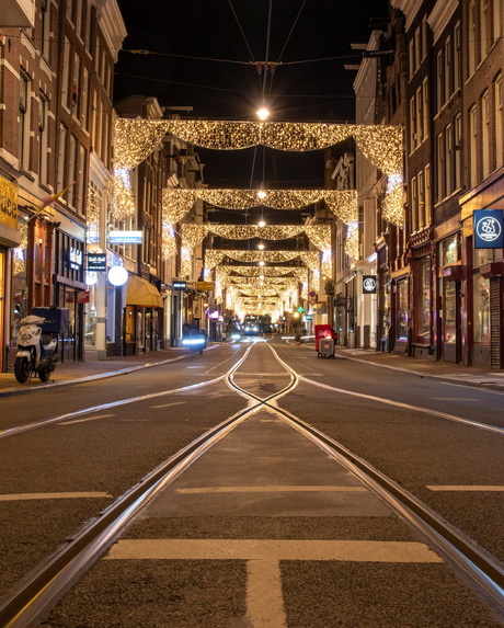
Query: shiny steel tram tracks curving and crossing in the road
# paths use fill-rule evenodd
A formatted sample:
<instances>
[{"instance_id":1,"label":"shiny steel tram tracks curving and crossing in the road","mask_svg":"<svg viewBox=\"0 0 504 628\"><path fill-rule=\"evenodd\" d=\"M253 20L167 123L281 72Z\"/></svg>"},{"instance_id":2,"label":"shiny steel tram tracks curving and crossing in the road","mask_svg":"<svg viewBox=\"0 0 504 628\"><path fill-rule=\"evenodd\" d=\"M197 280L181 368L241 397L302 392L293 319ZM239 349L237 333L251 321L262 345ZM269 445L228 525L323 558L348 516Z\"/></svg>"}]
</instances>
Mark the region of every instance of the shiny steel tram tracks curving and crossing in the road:
<instances>
[{"instance_id":1,"label":"shiny steel tram tracks curving and crossing in the road","mask_svg":"<svg viewBox=\"0 0 504 628\"><path fill-rule=\"evenodd\" d=\"M375 469L366 460L350 452L342 444L313 429L291 412L278 408L277 401L293 391L301 380L314 386L321 386L320 382L299 376L294 368L280 359L275 350L270 345L267 346L273 356L288 374L289 382L280 390L270 393L265 398L250 390L245 390L237 382L239 369L250 356L253 346L254 345L251 345L243 357L225 375L206 382L145 397L129 398L110 404L96 406L70 414L62 414L41 423L5 430L0 433L0 437L13 436L27 430L34 430L67 420L69 416L96 412L112 406L131 403L145 398L160 397L171 395L175 391L181 392L193 388L201 388L222 379L229 388L249 400L247 409L229 416L154 469L141 482L133 487L110 507L100 513L94 521L73 538L69 539L57 552L48 557L46 561L27 574L0 605L0 624L2 626L12 628L25 627L35 625L42 618L46 617L55 604L112 544L118 539L125 526L129 524L147 504L150 504L167 486L181 477L194 461L225 438L240 423L243 423L257 412L263 411L273 414L276 419L290 425L294 430L323 449L331 458L337 460L343 467L350 470L358 478L359 482L378 495L389 509L402 519L406 521L421 538L427 539L429 547L457 572L462 574L463 579L469 581L471 585L480 592L482 597L490 600L495 613L504 613L504 568L499 560L481 549L460 530L450 526L450 524L444 521L436 512L423 504L393 480ZM331 387L325 388L330 389ZM335 390L346 392L340 389ZM366 397L358 393L357 396ZM379 401L383 400L380 399ZM400 406L396 402L394 404ZM444 415L443 413L429 412L415 407L410 408L428 412L444 419L458 420L458 418ZM471 423L466 420L462 421L465 423ZM476 423L473 426L490 429L495 433L502 433L501 429L494 426Z\"/></svg>"}]
</instances>

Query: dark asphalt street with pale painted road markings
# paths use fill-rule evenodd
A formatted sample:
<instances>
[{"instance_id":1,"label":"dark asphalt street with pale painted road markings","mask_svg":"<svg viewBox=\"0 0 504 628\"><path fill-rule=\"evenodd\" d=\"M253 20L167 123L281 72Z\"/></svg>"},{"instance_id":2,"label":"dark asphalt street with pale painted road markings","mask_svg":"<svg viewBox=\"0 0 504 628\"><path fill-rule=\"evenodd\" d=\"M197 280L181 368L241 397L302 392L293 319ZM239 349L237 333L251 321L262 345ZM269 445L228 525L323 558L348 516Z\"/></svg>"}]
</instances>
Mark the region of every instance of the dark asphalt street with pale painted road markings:
<instances>
[{"instance_id":1,"label":"dark asphalt street with pale painted road markings","mask_svg":"<svg viewBox=\"0 0 504 628\"><path fill-rule=\"evenodd\" d=\"M503 395L318 359L312 346L275 336L4 397L2 594L233 418L111 536L44 625L502 626L499 595L489 600L351 467L370 465L502 570ZM348 466L302 424L350 450Z\"/></svg>"}]
</instances>

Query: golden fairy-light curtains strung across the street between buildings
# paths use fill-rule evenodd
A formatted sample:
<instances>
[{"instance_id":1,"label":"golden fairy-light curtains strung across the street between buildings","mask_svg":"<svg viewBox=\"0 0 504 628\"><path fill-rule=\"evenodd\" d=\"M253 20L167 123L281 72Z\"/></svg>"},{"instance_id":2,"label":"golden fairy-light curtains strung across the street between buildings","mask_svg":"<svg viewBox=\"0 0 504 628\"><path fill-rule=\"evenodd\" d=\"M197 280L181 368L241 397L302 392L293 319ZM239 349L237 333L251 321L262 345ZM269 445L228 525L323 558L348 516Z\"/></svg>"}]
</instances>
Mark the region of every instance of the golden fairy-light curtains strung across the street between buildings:
<instances>
[{"instance_id":1,"label":"golden fairy-light curtains strung across the street between buildings","mask_svg":"<svg viewBox=\"0 0 504 628\"><path fill-rule=\"evenodd\" d=\"M386 125L340 125L328 123L229 122L117 118L115 122L115 168L112 180L112 214L115 220L135 215L130 173L169 134L180 140L214 150L239 150L265 146L284 151L320 150L353 137L358 149L387 176L382 216L393 225L403 224L403 129ZM297 210L323 202L346 225L345 253L358 259L358 199L355 190L208 190L162 191L162 254L177 250L176 225L197 201L224 209L243 212L253 207ZM224 239L285 240L306 233L316 251L254 251L207 249L204 276L215 274L216 287L228 305L251 305L261 311L293 304L308 286L318 290L321 276L332 276L332 242L329 225L199 225L181 228L181 274L192 271L193 251L208 233ZM283 266L298 260L297 266ZM224 262L228 263L224 263ZM229 263L259 264L243 266ZM288 275L287 277L285 275ZM299 288L301 284L301 288ZM245 292L247 290L247 292Z\"/></svg>"}]
</instances>

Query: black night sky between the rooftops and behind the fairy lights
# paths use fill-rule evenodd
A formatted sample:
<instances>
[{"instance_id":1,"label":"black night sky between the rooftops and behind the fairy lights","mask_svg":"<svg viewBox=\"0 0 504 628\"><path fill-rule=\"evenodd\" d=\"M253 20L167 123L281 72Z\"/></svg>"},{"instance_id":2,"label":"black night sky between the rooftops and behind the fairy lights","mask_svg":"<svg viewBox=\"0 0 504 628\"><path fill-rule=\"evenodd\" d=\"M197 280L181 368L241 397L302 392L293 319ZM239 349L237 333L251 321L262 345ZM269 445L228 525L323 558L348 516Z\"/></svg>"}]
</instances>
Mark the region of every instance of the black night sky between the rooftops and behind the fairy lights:
<instances>
[{"instance_id":1,"label":"black night sky between the rooftops and behind the fairy lights","mask_svg":"<svg viewBox=\"0 0 504 628\"><path fill-rule=\"evenodd\" d=\"M387 0L118 0L128 36L115 67L115 100L157 96L192 106L191 117L257 119L264 94L272 121L354 122L355 71L371 20ZM270 16L271 10L271 20ZM148 50L149 55L126 50ZM323 59L323 60L322 60ZM260 61L279 64L257 72ZM198 150L211 187L321 187L323 151Z\"/></svg>"}]
</instances>

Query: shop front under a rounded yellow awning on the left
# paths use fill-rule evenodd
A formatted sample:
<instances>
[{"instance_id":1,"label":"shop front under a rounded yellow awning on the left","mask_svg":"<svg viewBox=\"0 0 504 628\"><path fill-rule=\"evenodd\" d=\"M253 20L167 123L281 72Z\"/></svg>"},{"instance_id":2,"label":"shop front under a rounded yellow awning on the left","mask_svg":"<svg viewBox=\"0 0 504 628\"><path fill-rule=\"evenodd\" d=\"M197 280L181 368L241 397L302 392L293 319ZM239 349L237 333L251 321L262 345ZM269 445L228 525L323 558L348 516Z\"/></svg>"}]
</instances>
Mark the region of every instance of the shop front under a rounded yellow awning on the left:
<instances>
[{"instance_id":1,"label":"shop front under a rounded yellow awning on the left","mask_svg":"<svg viewBox=\"0 0 504 628\"><path fill-rule=\"evenodd\" d=\"M163 305L163 298L153 284L137 275L129 275L124 321L125 355L158 351Z\"/></svg>"}]
</instances>

